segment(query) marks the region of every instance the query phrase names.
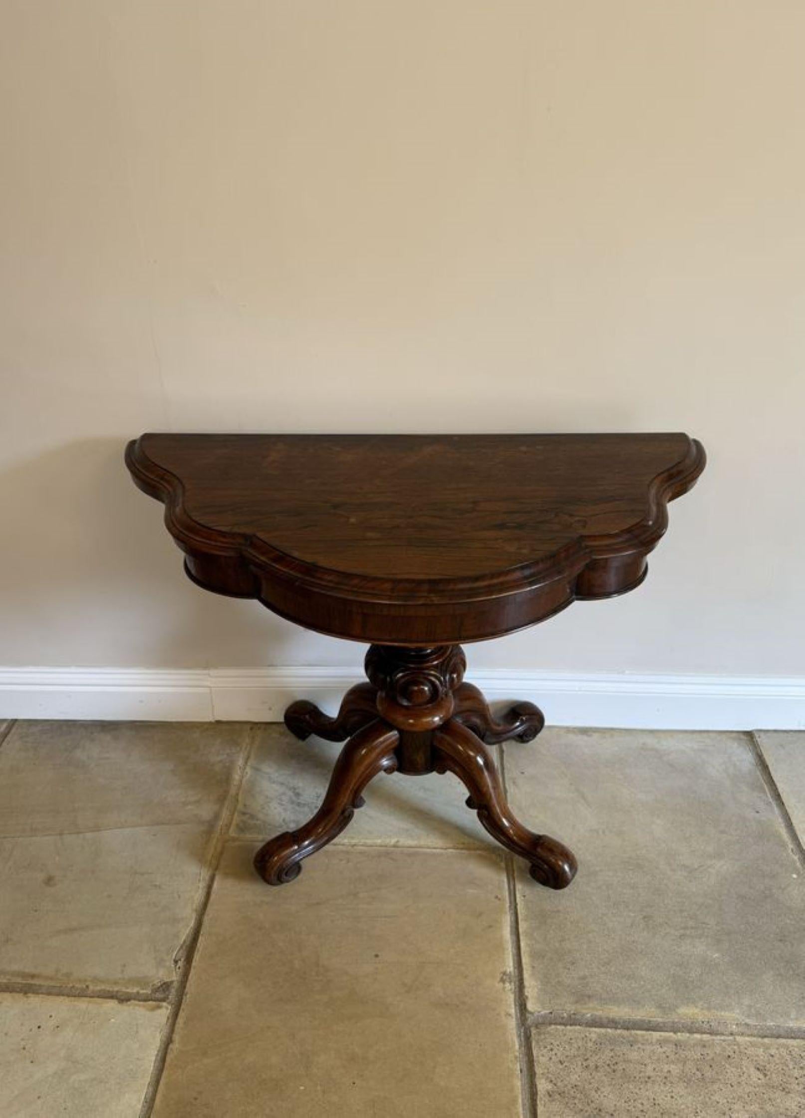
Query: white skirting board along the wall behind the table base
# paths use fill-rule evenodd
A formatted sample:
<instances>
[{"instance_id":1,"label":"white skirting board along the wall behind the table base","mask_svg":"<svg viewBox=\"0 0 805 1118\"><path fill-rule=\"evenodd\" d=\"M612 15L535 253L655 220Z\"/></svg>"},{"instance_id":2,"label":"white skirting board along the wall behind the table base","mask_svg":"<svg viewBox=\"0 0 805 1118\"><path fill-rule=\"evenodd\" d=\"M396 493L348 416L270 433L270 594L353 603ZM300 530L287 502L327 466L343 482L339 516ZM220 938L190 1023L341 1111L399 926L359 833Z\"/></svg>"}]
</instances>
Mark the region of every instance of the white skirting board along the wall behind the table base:
<instances>
[{"instance_id":1,"label":"white skirting board along the wall behind the table base","mask_svg":"<svg viewBox=\"0 0 805 1118\"><path fill-rule=\"evenodd\" d=\"M0 667L0 718L280 721L294 699L338 709L360 667L171 671ZM805 678L472 672L492 700L529 699L553 726L805 729Z\"/></svg>"}]
</instances>

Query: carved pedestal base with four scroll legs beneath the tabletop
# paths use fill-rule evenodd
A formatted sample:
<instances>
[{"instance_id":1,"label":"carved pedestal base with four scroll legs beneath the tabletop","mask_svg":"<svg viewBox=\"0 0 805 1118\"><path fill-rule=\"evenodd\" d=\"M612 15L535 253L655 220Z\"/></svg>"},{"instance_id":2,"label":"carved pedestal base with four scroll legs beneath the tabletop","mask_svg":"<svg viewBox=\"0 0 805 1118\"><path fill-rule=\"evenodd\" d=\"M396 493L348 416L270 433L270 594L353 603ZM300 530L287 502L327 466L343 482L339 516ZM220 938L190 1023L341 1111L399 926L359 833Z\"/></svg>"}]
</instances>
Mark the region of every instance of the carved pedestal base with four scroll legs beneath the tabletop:
<instances>
[{"instance_id":1,"label":"carved pedestal base with four scroll legs beneath the tabletop","mask_svg":"<svg viewBox=\"0 0 805 1118\"><path fill-rule=\"evenodd\" d=\"M464 683L458 645L405 648L372 645L366 657L369 682L351 688L335 718L313 703L295 702L285 724L304 740L314 733L345 741L321 807L299 831L269 840L255 855L264 881L293 881L302 861L325 846L363 803L361 793L379 773L454 773L465 785L467 806L493 839L524 858L531 877L551 889L572 881L577 863L556 839L534 834L506 803L496 766L484 742L531 741L543 718L521 702L495 719L481 691Z\"/></svg>"}]
</instances>

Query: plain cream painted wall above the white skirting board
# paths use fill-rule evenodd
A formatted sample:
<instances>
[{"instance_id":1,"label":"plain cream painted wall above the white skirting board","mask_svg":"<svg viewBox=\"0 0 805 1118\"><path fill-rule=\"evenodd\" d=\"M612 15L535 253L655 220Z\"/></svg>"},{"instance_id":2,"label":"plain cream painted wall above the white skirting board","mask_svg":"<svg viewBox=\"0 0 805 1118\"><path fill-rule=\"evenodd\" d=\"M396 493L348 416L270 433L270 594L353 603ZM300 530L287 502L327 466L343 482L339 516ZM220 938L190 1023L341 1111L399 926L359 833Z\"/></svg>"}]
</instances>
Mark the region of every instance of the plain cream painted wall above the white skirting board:
<instances>
[{"instance_id":1,"label":"plain cream painted wall above the white skirting board","mask_svg":"<svg viewBox=\"0 0 805 1118\"><path fill-rule=\"evenodd\" d=\"M476 666L805 674L805 6L3 0L0 664L352 664L124 440L659 430L645 586Z\"/></svg>"}]
</instances>

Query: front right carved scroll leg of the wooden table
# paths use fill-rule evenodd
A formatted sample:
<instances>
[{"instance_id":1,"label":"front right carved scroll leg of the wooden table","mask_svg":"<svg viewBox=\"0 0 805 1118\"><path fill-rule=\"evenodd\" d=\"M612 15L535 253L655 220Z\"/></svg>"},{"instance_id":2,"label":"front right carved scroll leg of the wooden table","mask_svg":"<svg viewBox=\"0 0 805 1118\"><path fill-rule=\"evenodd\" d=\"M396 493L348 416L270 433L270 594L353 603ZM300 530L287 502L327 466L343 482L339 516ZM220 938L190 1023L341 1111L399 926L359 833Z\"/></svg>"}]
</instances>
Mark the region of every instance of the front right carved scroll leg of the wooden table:
<instances>
[{"instance_id":1,"label":"front right carved scroll leg of the wooden table","mask_svg":"<svg viewBox=\"0 0 805 1118\"><path fill-rule=\"evenodd\" d=\"M575 855L556 839L538 835L514 817L498 769L477 736L456 719L434 733L436 769L454 773L470 793L471 806L493 839L530 863L534 881L565 889L576 877Z\"/></svg>"}]
</instances>

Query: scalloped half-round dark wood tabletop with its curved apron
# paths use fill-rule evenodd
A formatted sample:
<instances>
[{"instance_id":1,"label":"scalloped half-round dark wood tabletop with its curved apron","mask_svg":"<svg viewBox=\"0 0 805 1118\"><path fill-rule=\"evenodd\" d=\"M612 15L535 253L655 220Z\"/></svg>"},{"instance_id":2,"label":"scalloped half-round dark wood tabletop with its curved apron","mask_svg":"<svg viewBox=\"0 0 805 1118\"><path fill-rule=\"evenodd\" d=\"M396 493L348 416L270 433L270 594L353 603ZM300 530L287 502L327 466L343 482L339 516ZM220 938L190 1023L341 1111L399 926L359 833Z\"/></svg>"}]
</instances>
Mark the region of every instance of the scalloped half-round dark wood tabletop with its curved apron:
<instances>
[{"instance_id":1,"label":"scalloped half-round dark wood tabletop with its curved apron","mask_svg":"<svg viewBox=\"0 0 805 1118\"><path fill-rule=\"evenodd\" d=\"M200 586L422 646L637 586L704 453L686 435L143 435L126 462Z\"/></svg>"}]
</instances>

